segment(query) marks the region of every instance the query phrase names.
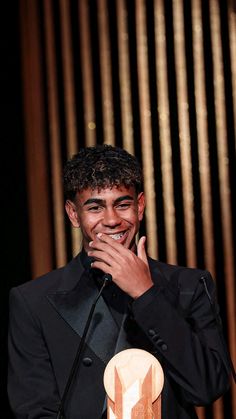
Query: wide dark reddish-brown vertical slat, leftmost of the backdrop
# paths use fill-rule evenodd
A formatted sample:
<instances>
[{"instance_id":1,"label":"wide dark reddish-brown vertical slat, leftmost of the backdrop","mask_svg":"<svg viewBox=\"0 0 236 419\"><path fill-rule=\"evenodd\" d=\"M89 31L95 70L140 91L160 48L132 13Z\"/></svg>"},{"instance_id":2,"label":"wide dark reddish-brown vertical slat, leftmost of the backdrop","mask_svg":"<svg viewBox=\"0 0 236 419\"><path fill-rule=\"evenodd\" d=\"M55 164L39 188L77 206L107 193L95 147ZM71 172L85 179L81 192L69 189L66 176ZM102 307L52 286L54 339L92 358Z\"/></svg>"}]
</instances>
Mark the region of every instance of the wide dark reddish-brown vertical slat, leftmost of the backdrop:
<instances>
[{"instance_id":1,"label":"wide dark reddish-brown vertical slat, leftmost of the backdrop","mask_svg":"<svg viewBox=\"0 0 236 419\"><path fill-rule=\"evenodd\" d=\"M20 2L26 173L33 277L52 269L49 179L37 3Z\"/></svg>"}]
</instances>

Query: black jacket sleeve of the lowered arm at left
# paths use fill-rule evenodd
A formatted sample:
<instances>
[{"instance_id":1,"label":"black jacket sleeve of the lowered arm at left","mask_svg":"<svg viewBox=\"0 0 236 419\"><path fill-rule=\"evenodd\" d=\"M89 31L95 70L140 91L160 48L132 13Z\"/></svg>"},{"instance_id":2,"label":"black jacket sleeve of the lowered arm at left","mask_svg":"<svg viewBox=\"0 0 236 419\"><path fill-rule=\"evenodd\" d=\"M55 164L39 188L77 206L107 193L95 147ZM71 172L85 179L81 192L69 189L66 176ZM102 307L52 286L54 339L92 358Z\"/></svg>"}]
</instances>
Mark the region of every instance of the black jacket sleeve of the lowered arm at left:
<instances>
[{"instance_id":1,"label":"black jacket sleeve of the lowered arm at left","mask_svg":"<svg viewBox=\"0 0 236 419\"><path fill-rule=\"evenodd\" d=\"M10 292L8 396L17 419L56 418L59 395L39 321L18 288Z\"/></svg>"}]
</instances>

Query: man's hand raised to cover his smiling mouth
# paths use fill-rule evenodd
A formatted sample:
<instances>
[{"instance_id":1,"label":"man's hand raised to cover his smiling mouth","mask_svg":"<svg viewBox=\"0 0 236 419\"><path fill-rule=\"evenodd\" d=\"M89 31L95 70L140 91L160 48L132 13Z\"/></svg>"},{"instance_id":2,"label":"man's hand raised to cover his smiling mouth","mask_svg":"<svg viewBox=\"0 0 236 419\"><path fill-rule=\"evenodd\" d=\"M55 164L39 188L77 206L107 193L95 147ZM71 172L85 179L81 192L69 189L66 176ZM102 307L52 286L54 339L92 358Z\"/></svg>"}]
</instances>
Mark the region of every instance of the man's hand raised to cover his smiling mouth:
<instances>
[{"instance_id":1,"label":"man's hand raised to cover his smiling mouth","mask_svg":"<svg viewBox=\"0 0 236 419\"><path fill-rule=\"evenodd\" d=\"M146 237L140 238L136 256L108 235L99 233L97 239L89 243L88 255L95 259L92 267L111 274L116 285L136 299L153 285L145 241Z\"/></svg>"}]
</instances>

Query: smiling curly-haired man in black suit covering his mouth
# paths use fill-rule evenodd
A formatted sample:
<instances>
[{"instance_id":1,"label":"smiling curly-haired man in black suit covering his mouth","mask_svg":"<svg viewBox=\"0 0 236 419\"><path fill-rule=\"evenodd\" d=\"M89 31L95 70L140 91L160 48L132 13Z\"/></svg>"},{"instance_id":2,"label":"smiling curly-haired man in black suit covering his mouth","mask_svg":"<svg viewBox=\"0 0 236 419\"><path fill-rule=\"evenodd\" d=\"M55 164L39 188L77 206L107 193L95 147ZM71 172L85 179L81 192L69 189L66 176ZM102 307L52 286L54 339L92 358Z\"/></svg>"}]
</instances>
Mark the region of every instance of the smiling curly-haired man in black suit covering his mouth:
<instances>
[{"instance_id":1,"label":"smiling curly-haired man in black suit covering his mouth","mask_svg":"<svg viewBox=\"0 0 236 419\"><path fill-rule=\"evenodd\" d=\"M145 198L140 166L125 150L81 150L65 166L64 189L83 250L65 267L11 291L8 391L15 416L57 416L107 273L112 283L97 303L65 417L105 417L105 366L135 347L154 354L164 370L162 418L196 418L194 405L212 403L229 385L210 274L149 258L145 237L136 246Z\"/></svg>"}]
</instances>

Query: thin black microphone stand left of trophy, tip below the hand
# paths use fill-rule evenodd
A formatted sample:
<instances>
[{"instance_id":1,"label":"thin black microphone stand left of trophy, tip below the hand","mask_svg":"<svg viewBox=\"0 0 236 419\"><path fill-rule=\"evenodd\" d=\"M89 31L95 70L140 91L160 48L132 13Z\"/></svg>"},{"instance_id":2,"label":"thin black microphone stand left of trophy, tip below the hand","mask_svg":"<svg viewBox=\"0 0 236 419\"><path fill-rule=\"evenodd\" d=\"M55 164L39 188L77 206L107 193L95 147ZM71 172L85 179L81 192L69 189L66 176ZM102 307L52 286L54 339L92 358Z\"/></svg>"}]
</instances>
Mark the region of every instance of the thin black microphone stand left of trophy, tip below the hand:
<instances>
[{"instance_id":1,"label":"thin black microphone stand left of trophy, tip below the hand","mask_svg":"<svg viewBox=\"0 0 236 419\"><path fill-rule=\"evenodd\" d=\"M90 309L88 320L86 322L84 332L83 332L83 335L82 335L82 338L81 338L81 341L80 341L80 344L79 344L74 362L73 362L71 370L70 370L70 374L69 374L69 377L68 377L68 380L67 380L67 383L66 383L66 386L65 386L65 390L64 390L63 395L62 395L61 403L60 403L60 406L59 406L59 409L58 409L57 419L66 419L65 418L65 413L64 413L65 401L66 401L67 395L69 393L70 387L72 385L72 382L75 378L76 372L79 368L81 354L82 354L82 351L84 349L85 339L86 339L88 329L89 329L89 326L90 326L90 323L91 323L91 320L92 320L92 317L93 317L93 313L94 313L96 304L97 304L97 302L98 302L106 284L108 284L112 281L112 276L110 274L104 274L102 279L103 279L103 284L102 284L101 289L100 289L97 297L95 298L95 300L92 304L92 307Z\"/></svg>"}]
</instances>

